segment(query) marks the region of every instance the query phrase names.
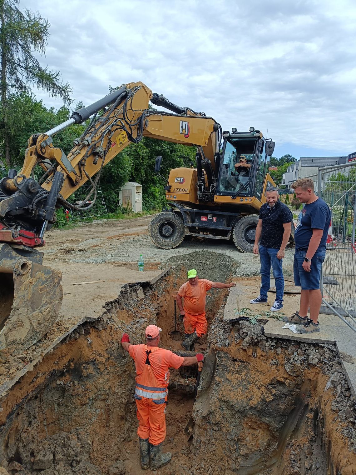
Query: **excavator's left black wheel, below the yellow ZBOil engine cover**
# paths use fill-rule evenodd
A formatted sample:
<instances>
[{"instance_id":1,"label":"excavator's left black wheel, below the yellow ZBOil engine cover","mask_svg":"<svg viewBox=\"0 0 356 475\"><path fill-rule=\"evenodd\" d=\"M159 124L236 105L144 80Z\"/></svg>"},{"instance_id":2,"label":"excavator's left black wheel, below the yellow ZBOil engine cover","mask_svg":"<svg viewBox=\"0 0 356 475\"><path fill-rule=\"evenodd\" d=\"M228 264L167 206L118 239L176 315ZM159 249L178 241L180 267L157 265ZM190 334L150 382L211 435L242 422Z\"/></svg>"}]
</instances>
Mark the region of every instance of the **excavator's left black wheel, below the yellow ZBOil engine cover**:
<instances>
[{"instance_id":1,"label":"excavator's left black wheel, below the yellow ZBOil engine cover","mask_svg":"<svg viewBox=\"0 0 356 475\"><path fill-rule=\"evenodd\" d=\"M174 249L184 239L185 229L181 218L170 211L156 214L149 225L151 241L161 249Z\"/></svg>"}]
</instances>

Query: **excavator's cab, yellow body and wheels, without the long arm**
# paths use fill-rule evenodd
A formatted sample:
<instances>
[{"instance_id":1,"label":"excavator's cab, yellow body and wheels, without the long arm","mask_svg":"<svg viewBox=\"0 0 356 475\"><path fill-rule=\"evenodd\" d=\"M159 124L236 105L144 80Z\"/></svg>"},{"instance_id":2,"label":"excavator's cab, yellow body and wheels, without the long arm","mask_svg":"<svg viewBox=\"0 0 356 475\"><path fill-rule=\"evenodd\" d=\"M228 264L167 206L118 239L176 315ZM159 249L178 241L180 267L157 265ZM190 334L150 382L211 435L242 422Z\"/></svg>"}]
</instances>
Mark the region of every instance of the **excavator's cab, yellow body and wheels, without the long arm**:
<instances>
[{"instance_id":1,"label":"excavator's cab, yellow body and wheels, without the long arm","mask_svg":"<svg viewBox=\"0 0 356 475\"><path fill-rule=\"evenodd\" d=\"M183 109L175 107L182 113ZM210 120L210 119L206 119ZM264 192L275 186L268 173L274 142L259 130L222 133L210 124L206 145L197 147L196 168L176 168L169 172L166 199L169 206L152 218L149 234L163 249L178 247L185 236L230 239L241 252L252 252L258 211L266 201ZM216 130L217 129L217 130ZM193 142L190 118L182 121L181 133ZM221 150L221 152L220 152ZM157 157L159 172L162 157ZM291 237L292 238L292 237Z\"/></svg>"}]
</instances>

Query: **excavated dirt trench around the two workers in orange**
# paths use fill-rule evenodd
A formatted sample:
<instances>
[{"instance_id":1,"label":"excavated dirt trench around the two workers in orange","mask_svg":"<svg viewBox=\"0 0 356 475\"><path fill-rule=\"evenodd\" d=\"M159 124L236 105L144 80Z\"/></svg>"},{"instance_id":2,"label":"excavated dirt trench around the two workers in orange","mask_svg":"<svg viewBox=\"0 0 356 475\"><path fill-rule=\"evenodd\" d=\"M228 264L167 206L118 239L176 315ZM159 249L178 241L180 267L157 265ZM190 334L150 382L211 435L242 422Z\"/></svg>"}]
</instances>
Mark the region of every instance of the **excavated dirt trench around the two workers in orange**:
<instances>
[{"instance_id":1,"label":"excavated dirt trench around the two workers in orange","mask_svg":"<svg viewBox=\"0 0 356 475\"><path fill-rule=\"evenodd\" d=\"M122 333L140 343L146 325L157 323L162 346L182 350L170 336L171 293L192 262L200 276L231 278L237 263L216 257L176 257L156 284L127 285L100 319L80 325L2 395L1 475L143 473ZM223 322L227 296L212 289L207 297L196 402L196 368L171 372L165 448L173 458L160 473L355 475L355 401L336 348L267 338L263 320Z\"/></svg>"}]
</instances>

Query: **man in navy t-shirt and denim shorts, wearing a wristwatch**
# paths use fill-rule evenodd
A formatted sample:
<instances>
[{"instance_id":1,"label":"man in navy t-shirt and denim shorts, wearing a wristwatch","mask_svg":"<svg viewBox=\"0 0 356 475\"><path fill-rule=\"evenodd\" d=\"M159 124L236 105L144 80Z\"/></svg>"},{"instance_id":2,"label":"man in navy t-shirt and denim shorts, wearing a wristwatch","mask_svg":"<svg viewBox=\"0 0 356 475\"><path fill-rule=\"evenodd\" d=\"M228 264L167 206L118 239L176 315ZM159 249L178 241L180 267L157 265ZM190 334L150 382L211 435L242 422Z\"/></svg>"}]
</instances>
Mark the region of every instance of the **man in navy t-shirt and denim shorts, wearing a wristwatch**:
<instances>
[{"instance_id":1,"label":"man in navy t-shirt and denim shorts, wearing a wristwatch","mask_svg":"<svg viewBox=\"0 0 356 475\"><path fill-rule=\"evenodd\" d=\"M331 212L326 202L314 193L314 183L310 178L295 181L292 188L296 197L305 203L294 231L294 283L301 287L300 307L299 312L283 320L299 323L299 333L313 333L320 331L320 271L325 259Z\"/></svg>"}]
</instances>

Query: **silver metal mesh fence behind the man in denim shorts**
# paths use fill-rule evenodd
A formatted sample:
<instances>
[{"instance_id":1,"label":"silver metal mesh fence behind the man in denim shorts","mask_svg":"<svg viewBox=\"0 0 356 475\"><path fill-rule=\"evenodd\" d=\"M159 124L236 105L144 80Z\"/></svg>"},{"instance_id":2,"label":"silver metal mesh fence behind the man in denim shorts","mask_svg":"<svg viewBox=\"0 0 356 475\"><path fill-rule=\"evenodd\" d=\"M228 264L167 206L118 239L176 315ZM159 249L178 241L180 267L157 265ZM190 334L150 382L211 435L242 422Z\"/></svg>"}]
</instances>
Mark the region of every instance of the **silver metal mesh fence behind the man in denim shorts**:
<instances>
[{"instance_id":1,"label":"silver metal mesh fence behind the man in denim shorts","mask_svg":"<svg viewBox=\"0 0 356 475\"><path fill-rule=\"evenodd\" d=\"M310 178L331 209L320 279L323 313L338 315L356 332L356 162L319 168Z\"/></svg>"}]
</instances>

